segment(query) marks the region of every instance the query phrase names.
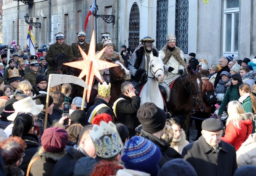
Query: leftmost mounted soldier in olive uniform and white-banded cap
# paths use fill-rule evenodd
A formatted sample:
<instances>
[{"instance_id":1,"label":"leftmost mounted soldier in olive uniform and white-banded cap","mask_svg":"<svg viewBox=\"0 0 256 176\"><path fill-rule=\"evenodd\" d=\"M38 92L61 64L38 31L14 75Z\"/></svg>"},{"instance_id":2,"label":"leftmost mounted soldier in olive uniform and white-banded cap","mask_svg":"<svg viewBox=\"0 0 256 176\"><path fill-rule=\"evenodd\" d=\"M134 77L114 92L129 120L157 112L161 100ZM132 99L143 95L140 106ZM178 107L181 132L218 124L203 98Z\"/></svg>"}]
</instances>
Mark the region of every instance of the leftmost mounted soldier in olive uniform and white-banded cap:
<instances>
[{"instance_id":1,"label":"leftmost mounted soldier in olive uniform and white-banded cap","mask_svg":"<svg viewBox=\"0 0 256 176\"><path fill-rule=\"evenodd\" d=\"M54 65L55 63L55 58L59 54L65 54L67 60L69 62L73 61L73 52L72 48L69 44L66 44L64 42L64 34L59 32L55 34L56 36L56 42L55 44L50 45L48 53L46 54L46 61L48 62L48 69L45 72L45 76L49 77L50 74L55 73L55 68Z\"/></svg>"}]
</instances>

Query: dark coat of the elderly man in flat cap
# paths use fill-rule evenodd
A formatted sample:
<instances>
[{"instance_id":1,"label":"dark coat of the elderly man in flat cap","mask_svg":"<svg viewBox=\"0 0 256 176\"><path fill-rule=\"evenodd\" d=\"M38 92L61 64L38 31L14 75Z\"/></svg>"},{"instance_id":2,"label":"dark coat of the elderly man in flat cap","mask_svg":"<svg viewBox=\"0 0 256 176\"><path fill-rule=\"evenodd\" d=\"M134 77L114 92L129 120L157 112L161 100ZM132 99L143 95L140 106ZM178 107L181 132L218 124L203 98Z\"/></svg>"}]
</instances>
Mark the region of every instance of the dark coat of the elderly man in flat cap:
<instances>
[{"instance_id":1,"label":"dark coat of the elderly man in flat cap","mask_svg":"<svg viewBox=\"0 0 256 176\"><path fill-rule=\"evenodd\" d=\"M198 176L233 176L237 169L234 146L221 141L216 153L203 136L184 147L182 158L195 168Z\"/></svg>"}]
</instances>

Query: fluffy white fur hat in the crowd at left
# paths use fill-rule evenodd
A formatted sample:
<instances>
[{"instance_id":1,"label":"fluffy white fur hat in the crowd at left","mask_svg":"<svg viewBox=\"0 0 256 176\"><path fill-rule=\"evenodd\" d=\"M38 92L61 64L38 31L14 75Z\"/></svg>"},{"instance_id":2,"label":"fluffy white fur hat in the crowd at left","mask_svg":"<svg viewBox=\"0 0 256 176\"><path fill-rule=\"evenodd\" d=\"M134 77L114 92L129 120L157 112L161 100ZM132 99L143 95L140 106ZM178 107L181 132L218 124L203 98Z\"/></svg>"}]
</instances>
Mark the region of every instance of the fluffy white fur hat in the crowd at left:
<instances>
[{"instance_id":1,"label":"fluffy white fur hat in the crowd at left","mask_svg":"<svg viewBox=\"0 0 256 176\"><path fill-rule=\"evenodd\" d=\"M18 102L13 103L15 112L7 117L8 120L14 121L19 112L30 112L37 116L42 110L44 105L36 105L31 97L24 98Z\"/></svg>"}]
</instances>

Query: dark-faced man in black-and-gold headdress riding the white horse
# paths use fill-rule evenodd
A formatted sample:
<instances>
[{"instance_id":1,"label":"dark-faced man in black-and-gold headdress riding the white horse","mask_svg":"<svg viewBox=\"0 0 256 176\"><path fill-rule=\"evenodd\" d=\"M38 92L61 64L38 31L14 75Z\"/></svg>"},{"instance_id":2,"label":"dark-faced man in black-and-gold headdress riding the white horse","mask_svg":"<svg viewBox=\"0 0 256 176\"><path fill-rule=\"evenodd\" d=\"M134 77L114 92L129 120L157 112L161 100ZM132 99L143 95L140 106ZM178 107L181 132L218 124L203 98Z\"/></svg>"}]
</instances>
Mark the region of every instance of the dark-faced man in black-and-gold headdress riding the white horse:
<instances>
[{"instance_id":1,"label":"dark-faced man in black-and-gold headdress riding the white horse","mask_svg":"<svg viewBox=\"0 0 256 176\"><path fill-rule=\"evenodd\" d=\"M149 70L149 61L150 56L156 56L158 57L158 51L156 47L152 44L155 42L153 38L150 36L146 36L143 39L141 39L141 44L137 46L137 48L134 50L134 54L129 60L128 69L130 70L131 75L136 79L132 80L134 87L138 85L139 79L138 75L140 75L139 72L142 70L146 71L146 75ZM184 61L183 61L184 62ZM168 67L166 68L168 71L172 71L173 68ZM166 85L165 82L159 83L160 86L163 87L165 90L165 99L168 102L169 101L169 95L170 95L170 88L168 85ZM137 87L136 87L137 88Z\"/></svg>"}]
</instances>

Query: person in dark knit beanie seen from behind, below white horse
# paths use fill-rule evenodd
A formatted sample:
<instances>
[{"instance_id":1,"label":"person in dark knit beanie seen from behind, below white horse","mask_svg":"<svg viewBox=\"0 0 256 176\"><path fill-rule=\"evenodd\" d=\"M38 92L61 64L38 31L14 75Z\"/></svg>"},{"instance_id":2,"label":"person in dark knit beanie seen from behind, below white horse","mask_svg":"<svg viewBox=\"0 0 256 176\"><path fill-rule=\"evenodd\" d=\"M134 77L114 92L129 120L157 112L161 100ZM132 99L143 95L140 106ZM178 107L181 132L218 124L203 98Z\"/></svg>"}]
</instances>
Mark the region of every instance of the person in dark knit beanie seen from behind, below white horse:
<instances>
[{"instance_id":1,"label":"person in dark knit beanie seen from behind, below white horse","mask_svg":"<svg viewBox=\"0 0 256 176\"><path fill-rule=\"evenodd\" d=\"M165 112L154 103L144 103L137 111L137 117L141 123L141 136L154 142L161 151L159 166L173 158L181 158L180 154L170 147L170 144L161 139L165 133L166 118Z\"/></svg>"}]
</instances>

